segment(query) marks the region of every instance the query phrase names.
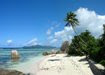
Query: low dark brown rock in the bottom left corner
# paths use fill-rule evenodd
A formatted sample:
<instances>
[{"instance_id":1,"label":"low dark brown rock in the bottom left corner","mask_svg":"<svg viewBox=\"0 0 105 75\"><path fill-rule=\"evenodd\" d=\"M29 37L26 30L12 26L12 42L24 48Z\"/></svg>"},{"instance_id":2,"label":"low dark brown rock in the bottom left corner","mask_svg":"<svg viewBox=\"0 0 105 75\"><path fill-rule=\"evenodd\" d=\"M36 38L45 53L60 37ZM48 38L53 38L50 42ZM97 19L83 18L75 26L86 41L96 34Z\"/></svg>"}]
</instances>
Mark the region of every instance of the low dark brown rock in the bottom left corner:
<instances>
[{"instance_id":1,"label":"low dark brown rock in the bottom left corner","mask_svg":"<svg viewBox=\"0 0 105 75\"><path fill-rule=\"evenodd\" d=\"M25 74L16 70L0 69L0 75L25 75Z\"/></svg>"}]
</instances>

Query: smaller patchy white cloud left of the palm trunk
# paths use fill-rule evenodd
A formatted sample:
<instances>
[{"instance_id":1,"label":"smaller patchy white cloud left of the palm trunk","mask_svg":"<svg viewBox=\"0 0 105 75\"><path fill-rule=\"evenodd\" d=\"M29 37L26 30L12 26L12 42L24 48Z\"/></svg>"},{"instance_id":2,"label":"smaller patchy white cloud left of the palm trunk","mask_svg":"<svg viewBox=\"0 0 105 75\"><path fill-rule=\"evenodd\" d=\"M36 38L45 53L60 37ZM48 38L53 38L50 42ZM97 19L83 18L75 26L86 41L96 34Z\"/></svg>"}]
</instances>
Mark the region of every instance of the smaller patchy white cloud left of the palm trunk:
<instances>
[{"instance_id":1,"label":"smaller patchy white cloud left of the palm trunk","mask_svg":"<svg viewBox=\"0 0 105 75\"><path fill-rule=\"evenodd\" d=\"M54 37L51 36L50 44L53 46L60 46L63 41L70 41L73 33L71 27L65 27L63 30L55 32L53 35Z\"/></svg>"}]
</instances>

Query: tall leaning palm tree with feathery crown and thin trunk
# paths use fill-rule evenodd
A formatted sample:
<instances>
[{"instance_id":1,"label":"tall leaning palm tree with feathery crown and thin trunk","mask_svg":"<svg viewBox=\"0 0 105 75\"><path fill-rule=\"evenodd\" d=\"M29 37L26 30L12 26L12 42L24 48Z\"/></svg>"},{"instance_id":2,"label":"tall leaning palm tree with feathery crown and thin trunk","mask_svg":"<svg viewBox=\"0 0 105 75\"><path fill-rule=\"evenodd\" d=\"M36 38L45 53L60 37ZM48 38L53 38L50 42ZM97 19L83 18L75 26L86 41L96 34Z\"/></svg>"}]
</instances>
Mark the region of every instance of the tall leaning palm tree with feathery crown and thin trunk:
<instances>
[{"instance_id":1,"label":"tall leaning palm tree with feathery crown and thin trunk","mask_svg":"<svg viewBox=\"0 0 105 75\"><path fill-rule=\"evenodd\" d=\"M75 27L79 25L79 21L76 18L76 14L73 12L69 12L67 13L67 17L65 18L65 21L67 22L66 26L72 26L74 32L77 34ZM84 40L82 40L82 38L79 36L79 39L81 40L83 44L83 46L87 47L87 44L84 42Z\"/></svg>"}]
</instances>

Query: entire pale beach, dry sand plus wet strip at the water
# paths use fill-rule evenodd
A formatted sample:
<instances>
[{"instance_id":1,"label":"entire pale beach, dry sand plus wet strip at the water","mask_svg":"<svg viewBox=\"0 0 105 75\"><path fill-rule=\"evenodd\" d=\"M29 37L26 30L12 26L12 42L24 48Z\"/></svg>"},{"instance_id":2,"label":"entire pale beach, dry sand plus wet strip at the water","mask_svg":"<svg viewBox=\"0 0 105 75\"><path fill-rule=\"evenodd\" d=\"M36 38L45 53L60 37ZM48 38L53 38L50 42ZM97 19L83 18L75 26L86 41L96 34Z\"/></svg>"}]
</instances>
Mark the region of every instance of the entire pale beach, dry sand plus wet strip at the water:
<instances>
[{"instance_id":1,"label":"entire pale beach, dry sand plus wet strip at the water","mask_svg":"<svg viewBox=\"0 0 105 75\"><path fill-rule=\"evenodd\" d=\"M85 57L65 57L66 54L49 55L37 63L36 59L15 67L15 70L31 75L93 75ZM55 61L54 61L55 60ZM81 61L80 61L81 60Z\"/></svg>"}]
</instances>

